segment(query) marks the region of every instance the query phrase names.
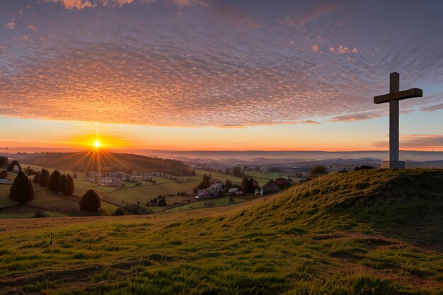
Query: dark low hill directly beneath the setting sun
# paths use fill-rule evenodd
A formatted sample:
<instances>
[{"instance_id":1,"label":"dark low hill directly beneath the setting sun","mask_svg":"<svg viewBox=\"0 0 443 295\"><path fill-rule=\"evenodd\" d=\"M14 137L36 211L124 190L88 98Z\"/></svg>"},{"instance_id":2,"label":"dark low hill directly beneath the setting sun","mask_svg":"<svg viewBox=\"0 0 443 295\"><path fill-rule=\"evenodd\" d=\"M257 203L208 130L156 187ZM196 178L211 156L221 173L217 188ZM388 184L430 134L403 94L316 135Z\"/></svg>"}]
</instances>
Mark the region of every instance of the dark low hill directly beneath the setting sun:
<instances>
[{"instance_id":1,"label":"dark low hill directly beneath the setting sun","mask_svg":"<svg viewBox=\"0 0 443 295\"><path fill-rule=\"evenodd\" d=\"M176 176L192 175L187 164L171 159L152 158L133 154L117 154L108 151L81 151L76 153L35 153L13 155L20 163L48 168L85 171L124 171L140 173L161 172Z\"/></svg>"}]
</instances>

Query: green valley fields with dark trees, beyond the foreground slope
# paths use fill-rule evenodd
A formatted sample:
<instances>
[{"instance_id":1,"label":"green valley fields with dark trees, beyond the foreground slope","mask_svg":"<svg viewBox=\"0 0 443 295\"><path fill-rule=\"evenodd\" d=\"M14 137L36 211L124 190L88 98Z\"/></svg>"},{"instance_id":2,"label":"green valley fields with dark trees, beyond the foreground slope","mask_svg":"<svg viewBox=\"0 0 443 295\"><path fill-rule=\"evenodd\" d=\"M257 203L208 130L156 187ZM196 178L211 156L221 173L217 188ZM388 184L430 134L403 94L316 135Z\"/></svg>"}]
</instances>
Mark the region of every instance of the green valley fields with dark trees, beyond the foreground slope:
<instances>
[{"instance_id":1,"label":"green valley fields with dark trees, beyond the foreground slope","mask_svg":"<svg viewBox=\"0 0 443 295\"><path fill-rule=\"evenodd\" d=\"M33 166L23 164L23 167L33 168L34 170L41 170L40 166ZM60 170L61 173L74 175L74 172L68 170ZM50 172L52 170L50 169ZM153 177L155 183L143 182L142 185L136 185L135 183L125 183L125 187L102 187L95 183L90 183L83 180L84 173L77 172L77 178L74 179L74 196L66 197L58 193L50 192L45 187L41 187L33 183L35 191L35 199L27 204L27 206L21 206L15 209L16 214L24 214L28 216L30 210L48 210L53 212L60 212L69 216L90 215L86 212L81 212L79 209L79 197L86 192L86 190L93 188L102 197L102 208L100 209L100 215L111 215L116 205L125 207L126 203L147 204L149 199L158 197L159 195L167 196L167 204L188 204L195 201L195 197L192 190L202 180L202 176L205 171L195 171L195 176L182 177L180 180L168 180L166 178ZM222 182L226 182L226 179L231 180L233 183L241 183L241 178L236 178L233 175L225 173L211 172L213 179L219 179ZM13 175L8 175L8 178L13 180ZM30 176L33 179L33 176ZM9 188L11 185L0 185L0 208L11 207L16 204L8 197ZM178 196L178 192L186 192L186 196ZM198 206L198 205L197 205ZM185 207L183 207L185 208ZM163 207L150 207L153 212L160 212ZM130 212L127 212L127 214ZM0 213L1 214L1 213ZM27 215L28 214L28 215ZM14 216L14 215L11 215Z\"/></svg>"}]
</instances>

